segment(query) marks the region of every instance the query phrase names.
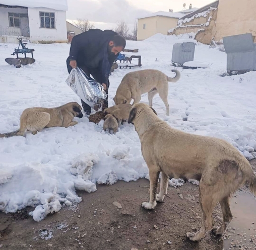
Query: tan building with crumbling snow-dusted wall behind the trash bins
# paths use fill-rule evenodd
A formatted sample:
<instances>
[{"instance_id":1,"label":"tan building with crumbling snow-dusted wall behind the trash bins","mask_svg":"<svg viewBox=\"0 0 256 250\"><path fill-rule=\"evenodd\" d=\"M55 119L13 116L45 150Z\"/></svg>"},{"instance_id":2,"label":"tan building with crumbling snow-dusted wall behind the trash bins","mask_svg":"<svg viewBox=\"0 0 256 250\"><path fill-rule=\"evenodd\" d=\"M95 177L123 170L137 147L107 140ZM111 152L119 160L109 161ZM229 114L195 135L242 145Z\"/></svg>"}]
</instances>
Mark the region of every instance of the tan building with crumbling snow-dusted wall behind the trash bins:
<instances>
[{"instance_id":1,"label":"tan building with crumbling snow-dusted wall behind the trash bins","mask_svg":"<svg viewBox=\"0 0 256 250\"><path fill-rule=\"evenodd\" d=\"M224 36L252 33L256 42L255 10L255 0L218 0L181 17L168 34L193 32L197 41L211 44Z\"/></svg>"}]
</instances>

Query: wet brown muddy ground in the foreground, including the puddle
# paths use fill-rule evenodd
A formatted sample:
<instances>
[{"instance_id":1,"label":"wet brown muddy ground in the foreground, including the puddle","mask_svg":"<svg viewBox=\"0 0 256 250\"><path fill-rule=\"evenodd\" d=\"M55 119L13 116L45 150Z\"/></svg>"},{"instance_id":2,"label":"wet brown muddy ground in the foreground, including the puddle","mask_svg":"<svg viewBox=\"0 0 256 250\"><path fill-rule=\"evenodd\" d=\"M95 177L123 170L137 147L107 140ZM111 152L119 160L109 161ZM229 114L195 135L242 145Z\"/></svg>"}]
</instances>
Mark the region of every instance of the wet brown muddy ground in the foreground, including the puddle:
<instances>
[{"instance_id":1,"label":"wet brown muddy ground in the foreground, including the puddle","mask_svg":"<svg viewBox=\"0 0 256 250\"><path fill-rule=\"evenodd\" d=\"M251 164L256 171L256 161ZM154 211L141 207L149 198L146 179L118 181L112 186L98 185L97 188L94 193L80 192L80 204L61 209L40 222L28 215L33 208L15 214L0 213L1 250L256 249L256 199L246 187L231 200L234 218L226 235L216 237L210 233L199 243L185 237L186 232L195 231L201 225L197 185L185 183L180 188L169 187L165 202ZM113 205L114 202L121 208ZM218 206L214 211L216 225L220 224L221 217Z\"/></svg>"}]
</instances>

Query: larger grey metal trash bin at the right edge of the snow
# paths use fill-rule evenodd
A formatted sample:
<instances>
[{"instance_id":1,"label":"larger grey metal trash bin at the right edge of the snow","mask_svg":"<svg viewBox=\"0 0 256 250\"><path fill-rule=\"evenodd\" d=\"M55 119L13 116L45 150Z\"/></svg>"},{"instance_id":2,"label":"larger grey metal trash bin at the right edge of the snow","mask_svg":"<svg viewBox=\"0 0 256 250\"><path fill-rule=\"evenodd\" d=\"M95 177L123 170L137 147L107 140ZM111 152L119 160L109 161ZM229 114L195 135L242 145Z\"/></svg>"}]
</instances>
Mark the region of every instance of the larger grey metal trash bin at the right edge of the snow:
<instances>
[{"instance_id":1,"label":"larger grey metal trash bin at the right edge of the snow","mask_svg":"<svg viewBox=\"0 0 256 250\"><path fill-rule=\"evenodd\" d=\"M256 43L251 33L223 37L227 72L256 71Z\"/></svg>"}]
</instances>

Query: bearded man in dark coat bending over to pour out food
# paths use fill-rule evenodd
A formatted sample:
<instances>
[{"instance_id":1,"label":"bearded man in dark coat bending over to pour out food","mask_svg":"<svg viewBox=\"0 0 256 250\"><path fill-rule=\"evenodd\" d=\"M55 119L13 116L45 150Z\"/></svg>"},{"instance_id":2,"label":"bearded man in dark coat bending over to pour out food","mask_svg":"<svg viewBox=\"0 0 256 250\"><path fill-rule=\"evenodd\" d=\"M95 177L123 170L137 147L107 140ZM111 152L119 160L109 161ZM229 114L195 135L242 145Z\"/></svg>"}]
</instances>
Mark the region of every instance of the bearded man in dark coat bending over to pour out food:
<instances>
[{"instance_id":1,"label":"bearded man in dark coat bending over to pour out food","mask_svg":"<svg viewBox=\"0 0 256 250\"><path fill-rule=\"evenodd\" d=\"M111 67L126 45L125 39L112 30L90 29L73 37L70 56L67 59L69 73L72 68L80 67L88 76L101 83L108 94ZM81 100L82 101L82 100ZM86 115L91 107L82 101ZM107 100L103 109L108 107Z\"/></svg>"}]
</instances>

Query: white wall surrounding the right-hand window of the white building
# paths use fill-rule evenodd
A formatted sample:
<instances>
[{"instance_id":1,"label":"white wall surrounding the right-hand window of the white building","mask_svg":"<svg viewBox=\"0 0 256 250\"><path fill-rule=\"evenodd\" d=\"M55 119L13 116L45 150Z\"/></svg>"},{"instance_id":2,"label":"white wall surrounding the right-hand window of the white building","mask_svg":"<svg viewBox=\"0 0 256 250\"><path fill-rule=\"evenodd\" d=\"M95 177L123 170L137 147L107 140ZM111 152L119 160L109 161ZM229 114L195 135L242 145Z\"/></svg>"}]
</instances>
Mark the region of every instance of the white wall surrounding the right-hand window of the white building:
<instances>
[{"instance_id":1,"label":"white wall surrounding the right-hand window of the white building","mask_svg":"<svg viewBox=\"0 0 256 250\"><path fill-rule=\"evenodd\" d=\"M55 13L55 29L40 28L39 12ZM30 42L67 42L66 11L28 8Z\"/></svg>"}]
</instances>

